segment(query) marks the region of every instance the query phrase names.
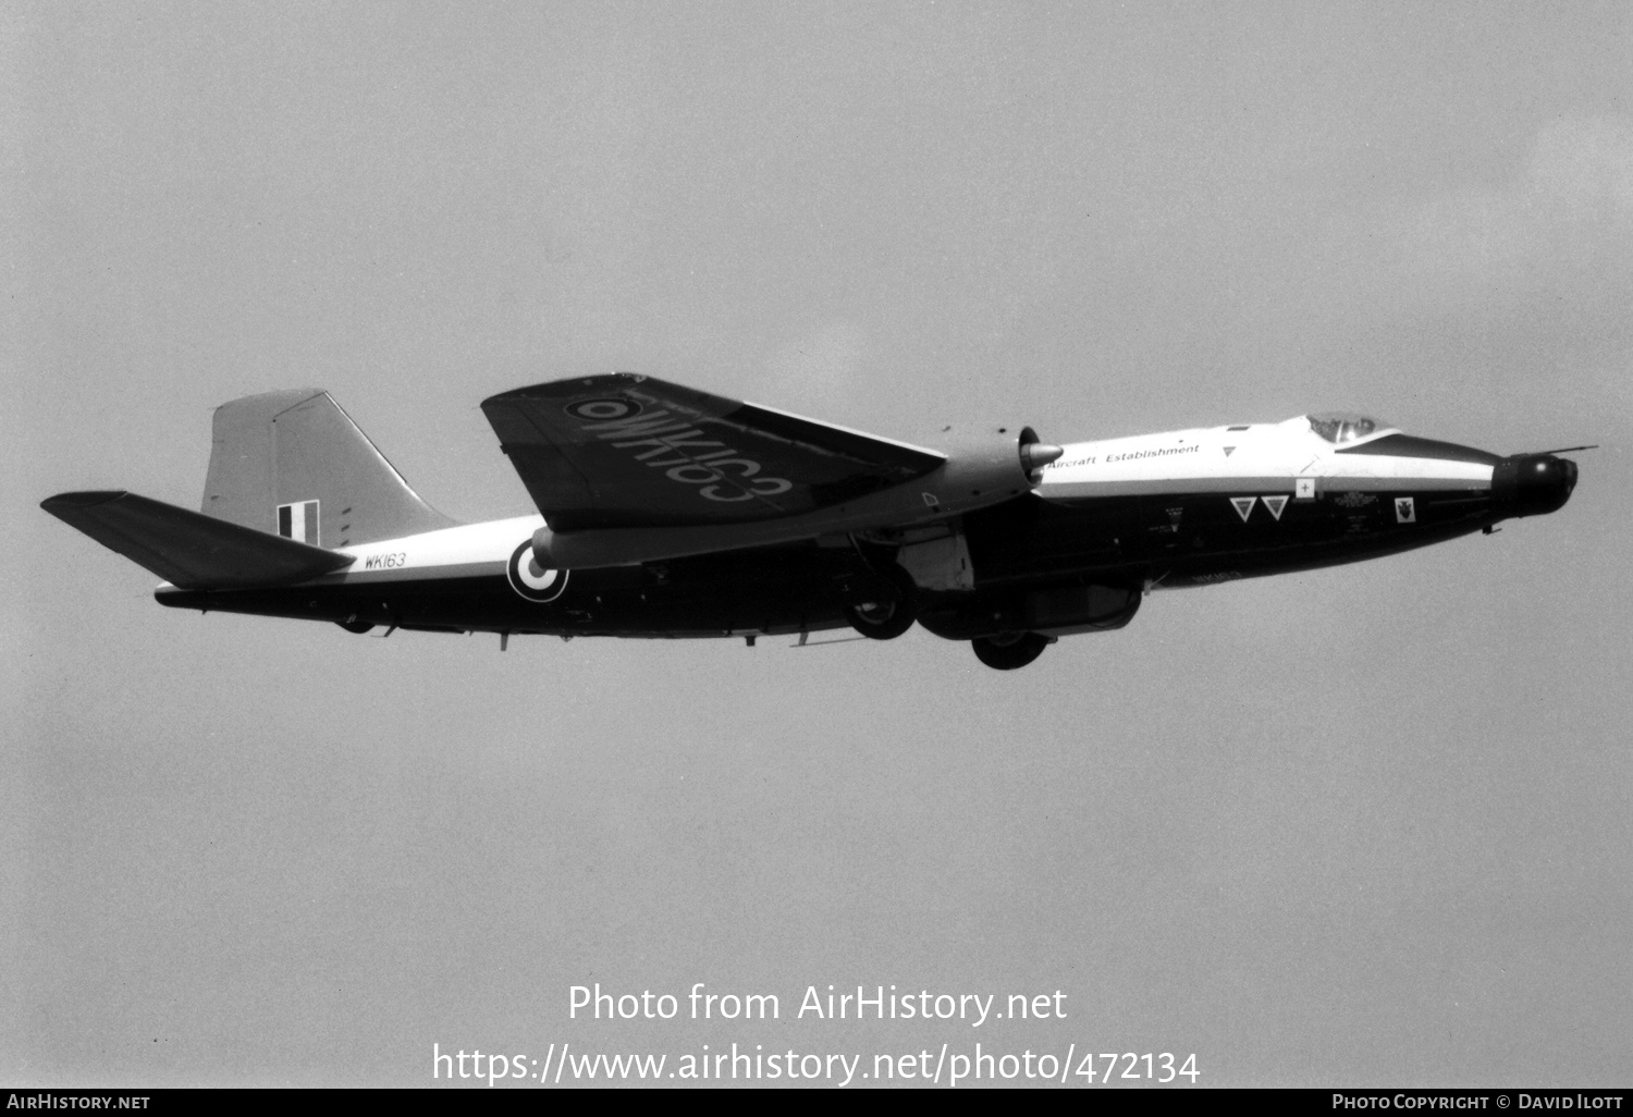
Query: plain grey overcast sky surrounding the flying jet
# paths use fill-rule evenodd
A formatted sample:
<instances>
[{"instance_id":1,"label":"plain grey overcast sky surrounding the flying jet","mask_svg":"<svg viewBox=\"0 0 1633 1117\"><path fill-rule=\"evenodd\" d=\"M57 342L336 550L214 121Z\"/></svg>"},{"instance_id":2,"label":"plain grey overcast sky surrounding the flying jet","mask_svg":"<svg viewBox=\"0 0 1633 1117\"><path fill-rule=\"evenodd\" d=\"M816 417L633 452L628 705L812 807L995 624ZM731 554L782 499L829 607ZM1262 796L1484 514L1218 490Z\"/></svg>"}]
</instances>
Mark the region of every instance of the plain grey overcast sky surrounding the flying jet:
<instances>
[{"instance_id":1,"label":"plain grey overcast sky surrounding the flying jet","mask_svg":"<svg viewBox=\"0 0 1633 1117\"><path fill-rule=\"evenodd\" d=\"M1630 93L1625 3L7 5L0 1081L1626 1084ZM199 617L38 508L196 506L211 408L317 385L443 511L529 513L478 402L617 369L916 441L1604 449L1553 516L1016 673ZM782 1019L568 1019L594 981ZM795 1019L830 983L1068 1017Z\"/></svg>"}]
</instances>

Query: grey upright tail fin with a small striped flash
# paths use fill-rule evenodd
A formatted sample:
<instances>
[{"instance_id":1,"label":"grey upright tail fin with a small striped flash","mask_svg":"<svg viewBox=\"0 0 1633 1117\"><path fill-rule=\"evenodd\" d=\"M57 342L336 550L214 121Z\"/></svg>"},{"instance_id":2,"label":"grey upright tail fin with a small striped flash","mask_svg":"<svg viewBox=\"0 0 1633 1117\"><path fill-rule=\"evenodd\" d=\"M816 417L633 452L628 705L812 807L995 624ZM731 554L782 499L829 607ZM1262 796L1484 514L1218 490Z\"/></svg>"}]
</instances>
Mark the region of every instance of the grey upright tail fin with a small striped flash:
<instances>
[{"instance_id":1,"label":"grey upright tail fin with a small striped flash","mask_svg":"<svg viewBox=\"0 0 1633 1117\"><path fill-rule=\"evenodd\" d=\"M457 524L420 500L320 389L247 395L216 408L202 511L318 547Z\"/></svg>"}]
</instances>

